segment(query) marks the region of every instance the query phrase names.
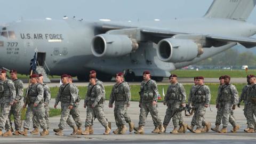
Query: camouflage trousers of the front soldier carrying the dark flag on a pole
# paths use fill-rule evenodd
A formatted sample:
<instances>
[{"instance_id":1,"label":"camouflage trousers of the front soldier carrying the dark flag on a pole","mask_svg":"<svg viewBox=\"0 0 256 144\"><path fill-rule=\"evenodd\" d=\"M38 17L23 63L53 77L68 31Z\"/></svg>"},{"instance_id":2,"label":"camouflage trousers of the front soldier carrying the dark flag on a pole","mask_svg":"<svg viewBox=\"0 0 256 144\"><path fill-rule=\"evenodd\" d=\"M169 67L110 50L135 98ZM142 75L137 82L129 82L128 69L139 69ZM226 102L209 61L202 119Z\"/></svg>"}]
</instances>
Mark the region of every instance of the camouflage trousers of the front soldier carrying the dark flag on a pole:
<instances>
[{"instance_id":1,"label":"camouflage trousers of the front soldier carrying the dark flag on a pole","mask_svg":"<svg viewBox=\"0 0 256 144\"><path fill-rule=\"evenodd\" d=\"M29 103L26 111L26 120L24 122L24 128L29 129L32 123L33 117L37 118L39 125L42 129L47 129L47 124L45 121L45 108L43 104L38 104L34 107L34 103Z\"/></svg>"}]
</instances>

